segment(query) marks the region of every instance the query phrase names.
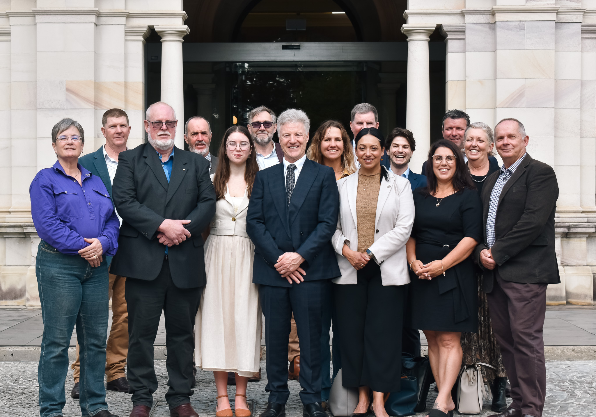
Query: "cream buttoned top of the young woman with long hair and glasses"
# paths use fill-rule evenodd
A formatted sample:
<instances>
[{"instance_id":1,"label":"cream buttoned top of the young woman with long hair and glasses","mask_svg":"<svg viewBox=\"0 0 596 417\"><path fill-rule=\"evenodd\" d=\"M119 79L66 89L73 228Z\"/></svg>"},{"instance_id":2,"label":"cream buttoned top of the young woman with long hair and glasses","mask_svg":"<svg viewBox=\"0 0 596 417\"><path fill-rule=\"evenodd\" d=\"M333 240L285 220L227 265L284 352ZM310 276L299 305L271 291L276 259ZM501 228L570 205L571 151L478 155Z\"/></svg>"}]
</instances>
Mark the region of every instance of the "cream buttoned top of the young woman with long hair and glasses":
<instances>
[{"instance_id":1,"label":"cream buttoned top of the young woman with long hair and glasses","mask_svg":"<svg viewBox=\"0 0 596 417\"><path fill-rule=\"evenodd\" d=\"M211 181L215 174L210 175ZM248 191L244 191L244 198L238 207L238 213L234 211L234 203L226 189L224 198L215 203L215 216L209 223L211 226L210 235L237 235L243 238L249 237L246 233L246 212L249 208Z\"/></svg>"}]
</instances>

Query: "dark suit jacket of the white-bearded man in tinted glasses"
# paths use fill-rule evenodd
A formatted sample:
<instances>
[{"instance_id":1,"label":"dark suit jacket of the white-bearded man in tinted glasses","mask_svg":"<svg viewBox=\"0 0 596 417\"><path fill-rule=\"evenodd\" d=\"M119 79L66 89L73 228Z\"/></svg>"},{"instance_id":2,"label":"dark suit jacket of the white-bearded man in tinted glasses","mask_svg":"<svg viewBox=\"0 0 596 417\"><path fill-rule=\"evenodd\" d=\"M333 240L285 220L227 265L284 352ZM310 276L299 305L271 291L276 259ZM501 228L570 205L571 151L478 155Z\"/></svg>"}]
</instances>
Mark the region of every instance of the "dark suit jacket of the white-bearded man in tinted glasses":
<instances>
[{"instance_id":1,"label":"dark suit jacket of the white-bearded man in tinted glasses","mask_svg":"<svg viewBox=\"0 0 596 417\"><path fill-rule=\"evenodd\" d=\"M215 214L209 161L176 148L167 183L159 156L150 144L120 153L113 184L114 204L123 219L111 273L151 281L162 269L166 247L157 241L164 219L191 220L191 237L168 248L172 281L178 288L205 285L201 232Z\"/></svg>"}]
</instances>

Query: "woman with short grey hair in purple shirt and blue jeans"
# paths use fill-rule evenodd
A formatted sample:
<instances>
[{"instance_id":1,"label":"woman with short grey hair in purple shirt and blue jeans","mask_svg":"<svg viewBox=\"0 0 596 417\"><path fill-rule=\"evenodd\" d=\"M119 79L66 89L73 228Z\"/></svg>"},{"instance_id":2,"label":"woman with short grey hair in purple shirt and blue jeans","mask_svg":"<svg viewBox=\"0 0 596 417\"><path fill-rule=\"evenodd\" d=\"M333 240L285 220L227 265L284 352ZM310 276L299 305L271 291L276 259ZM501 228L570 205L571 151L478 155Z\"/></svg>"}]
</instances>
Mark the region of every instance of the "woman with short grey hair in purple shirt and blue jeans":
<instances>
[{"instance_id":1,"label":"woman with short grey hair in purple shirt and blue jeans","mask_svg":"<svg viewBox=\"0 0 596 417\"><path fill-rule=\"evenodd\" d=\"M52 129L58 160L29 186L38 232L35 275L44 320L39 357L39 413L62 415L68 348L76 325L80 346L83 416L117 417L105 402L104 364L108 325L108 266L116 254L120 223L98 176L79 165L83 127L62 119Z\"/></svg>"}]
</instances>

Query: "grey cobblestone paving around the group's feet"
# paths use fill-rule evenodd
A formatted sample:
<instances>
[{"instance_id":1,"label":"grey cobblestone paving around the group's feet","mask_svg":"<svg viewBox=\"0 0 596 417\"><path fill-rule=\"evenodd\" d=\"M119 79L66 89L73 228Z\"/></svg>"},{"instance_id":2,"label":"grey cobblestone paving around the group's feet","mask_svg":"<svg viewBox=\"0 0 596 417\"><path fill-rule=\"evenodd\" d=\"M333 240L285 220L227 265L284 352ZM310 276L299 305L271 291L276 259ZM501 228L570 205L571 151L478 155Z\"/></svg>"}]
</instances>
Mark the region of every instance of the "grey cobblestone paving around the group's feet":
<instances>
[{"instance_id":1,"label":"grey cobblestone paving around the group's feet","mask_svg":"<svg viewBox=\"0 0 596 417\"><path fill-rule=\"evenodd\" d=\"M164 393L167 385L166 363L164 361L154 362L156 374L159 379L159 388L154 394L154 417L169 416L169 409L164 401ZM248 396L254 406L254 413L258 416L265 409L267 395L265 393L266 374L265 362L262 365L262 376L260 382L249 384ZM38 410L38 382L36 362L0 362L0 417L35 417L39 415ZM288 381L290 386L290 401L287 404L288 417L300 417L302 404L298 393L300 385L296 381ZM79 402L70 398L70 390L73 386L72 371L66 381L66 406L64 407L65 417L80 416ZM229 394L232 397L234 387L230 387ZM429 407L434 400L434 392L429 394ZM197 374L197 387L195 394L191 397L191 403L201 416L215 415L215 382L212 372L201 372ZM110 411L128 417L132 409L129 394L107 392L107 402ZM547 404L545 406L545 417L575 417L596 415L596 361L550 361L547 362ZM486 403L481 417L491 415L493 412ZM426 413L418 413L421 417Z\"/></svg>"}]
</instances>

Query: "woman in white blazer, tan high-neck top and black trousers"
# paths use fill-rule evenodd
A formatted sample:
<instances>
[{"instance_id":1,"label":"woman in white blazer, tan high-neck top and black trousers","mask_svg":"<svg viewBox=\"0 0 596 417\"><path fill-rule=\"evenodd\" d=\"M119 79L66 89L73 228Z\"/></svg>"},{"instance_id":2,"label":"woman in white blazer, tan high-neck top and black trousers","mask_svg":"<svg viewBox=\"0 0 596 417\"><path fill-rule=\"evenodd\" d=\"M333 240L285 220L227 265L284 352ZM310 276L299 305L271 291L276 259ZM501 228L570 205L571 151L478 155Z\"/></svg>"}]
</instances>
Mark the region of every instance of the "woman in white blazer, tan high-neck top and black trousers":
<instances>
[{"instance_id":1,"label":"woman in white blazer, tan high-neck top and black trousers","mask_svg":"<svg viewBox=\"0 0 596 417\"><path fill-rule=\"evenodd\" d=\"M370 404L387 417L383 393L401 390L402 319L409 284L405 244L414 223L412 189L406 178L380 165L383 135L374 127L356 138L360 168L337 182L339 220L333 235L342 276L333 280L334 317L344 387L359 389L353 415Z\"/></svg>"}]
</instances>

